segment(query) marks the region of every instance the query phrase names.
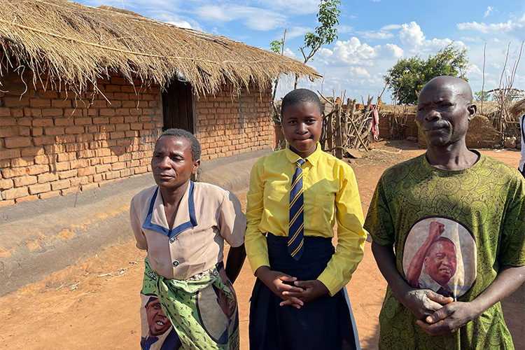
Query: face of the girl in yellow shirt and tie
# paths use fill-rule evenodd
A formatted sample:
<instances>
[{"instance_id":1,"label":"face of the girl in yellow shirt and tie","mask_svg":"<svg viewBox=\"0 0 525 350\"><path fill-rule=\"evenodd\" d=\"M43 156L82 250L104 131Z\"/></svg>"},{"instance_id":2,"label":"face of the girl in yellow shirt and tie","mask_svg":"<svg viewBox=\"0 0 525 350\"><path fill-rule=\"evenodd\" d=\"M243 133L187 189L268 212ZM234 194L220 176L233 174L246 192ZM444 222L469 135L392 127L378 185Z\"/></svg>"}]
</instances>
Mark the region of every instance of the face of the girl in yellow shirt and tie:
<instances>
[{"instance_id":1,"label":"face of the girl in yellow shirt and tie","mask_svg":"<svg viewBox=\"0 0 525 350\"><path fill-rule=\"evenodd\" d=\"M321 111L314 102L286 106L283 111L283 132L292 151L307 158L316 150L321 138Z\"/></svg>"}]
</instances>

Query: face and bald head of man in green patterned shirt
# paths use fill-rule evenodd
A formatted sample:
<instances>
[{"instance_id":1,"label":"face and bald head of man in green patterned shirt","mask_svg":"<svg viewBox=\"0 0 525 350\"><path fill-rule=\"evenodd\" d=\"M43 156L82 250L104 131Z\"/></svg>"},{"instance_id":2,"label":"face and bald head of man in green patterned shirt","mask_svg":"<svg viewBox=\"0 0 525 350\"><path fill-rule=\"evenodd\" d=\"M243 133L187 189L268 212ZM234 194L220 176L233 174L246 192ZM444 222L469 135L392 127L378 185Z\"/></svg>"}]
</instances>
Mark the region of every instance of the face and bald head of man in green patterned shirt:
<instances>
[{"instance_id":1,"label":"face and bald head of man in green patterned shirt","mask_svg":"<svg viewBox=\"0 0 525 350\"><path fill-rule=\"evenodd\" d=\"M421 90L416 124L428 146L447 147L465 138L476 107L471 103L472 97L469 99L470 88L466 83L457 78L440 78Z\"/></svg>"}]
</instances>

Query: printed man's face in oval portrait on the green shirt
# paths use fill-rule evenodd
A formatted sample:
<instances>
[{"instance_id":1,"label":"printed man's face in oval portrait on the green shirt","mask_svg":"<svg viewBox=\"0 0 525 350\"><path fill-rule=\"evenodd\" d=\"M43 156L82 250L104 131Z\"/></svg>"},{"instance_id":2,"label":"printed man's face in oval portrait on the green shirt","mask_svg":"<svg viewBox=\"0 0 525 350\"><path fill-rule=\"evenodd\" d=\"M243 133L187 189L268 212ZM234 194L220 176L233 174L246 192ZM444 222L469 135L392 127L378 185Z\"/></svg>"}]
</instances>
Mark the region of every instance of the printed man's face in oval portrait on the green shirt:
<instances>
[{"instance_id":1,"label":"printed man's face in oval portrait on the green shirt","mask_svg":"<svg viewBox=\"0 0 525 350\"><path fill-rule=\"evenodd\" d=\"M424 263L426 274L446 286L456 273L456 246L449 241L435 242L430 246Z\"/></svg>"}]
</instances>

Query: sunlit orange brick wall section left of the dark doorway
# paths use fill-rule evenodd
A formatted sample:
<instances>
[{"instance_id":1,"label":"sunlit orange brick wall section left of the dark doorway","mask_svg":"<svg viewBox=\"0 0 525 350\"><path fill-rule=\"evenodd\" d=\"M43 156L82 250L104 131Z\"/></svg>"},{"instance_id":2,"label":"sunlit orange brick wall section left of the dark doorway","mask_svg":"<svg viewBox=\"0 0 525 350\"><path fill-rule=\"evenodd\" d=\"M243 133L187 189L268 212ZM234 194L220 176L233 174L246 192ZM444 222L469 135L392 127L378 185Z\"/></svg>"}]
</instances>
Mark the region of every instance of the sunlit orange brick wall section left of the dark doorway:
<instances>
[{"instance_id":1,"label":"sunlit orange brick wall section left of the dark doorway","mask_svg":"<svg viewBox=\"0 0 525 350\"><path fill-rule=\"evenodd\" d=\"M114 76L99 80L102 94L92 97L92 87L76 96L40 82L35 90L29 74L24 80L15 73L2 78L0 206L148 172L162 128L158 87Z\"/></svg>"}]
</instances>

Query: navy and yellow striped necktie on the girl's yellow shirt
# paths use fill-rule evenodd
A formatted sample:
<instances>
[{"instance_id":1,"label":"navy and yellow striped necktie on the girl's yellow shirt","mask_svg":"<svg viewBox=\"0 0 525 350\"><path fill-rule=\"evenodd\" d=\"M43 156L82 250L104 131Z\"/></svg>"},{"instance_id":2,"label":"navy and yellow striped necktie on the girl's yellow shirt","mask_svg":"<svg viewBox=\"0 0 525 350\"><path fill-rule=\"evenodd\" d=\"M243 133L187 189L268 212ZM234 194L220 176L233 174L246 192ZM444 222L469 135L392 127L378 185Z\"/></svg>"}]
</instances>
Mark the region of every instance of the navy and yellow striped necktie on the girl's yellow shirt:
<instances>
[{"instance_id":1,"label":"navy and yellow striped necktie on the girl's yellow shirt","mask_svg":"<svg viewBox=\"0 0 525 350\"><path fill-rule=\"evenodd\" d=\"M299 260L302 255L304 217L302 199L302 168L304 160L295 162L295 174L293 174L292 187L290 189L290 223L288 225L288 253L295 260Z\"/></svg>"}]
</instances>

